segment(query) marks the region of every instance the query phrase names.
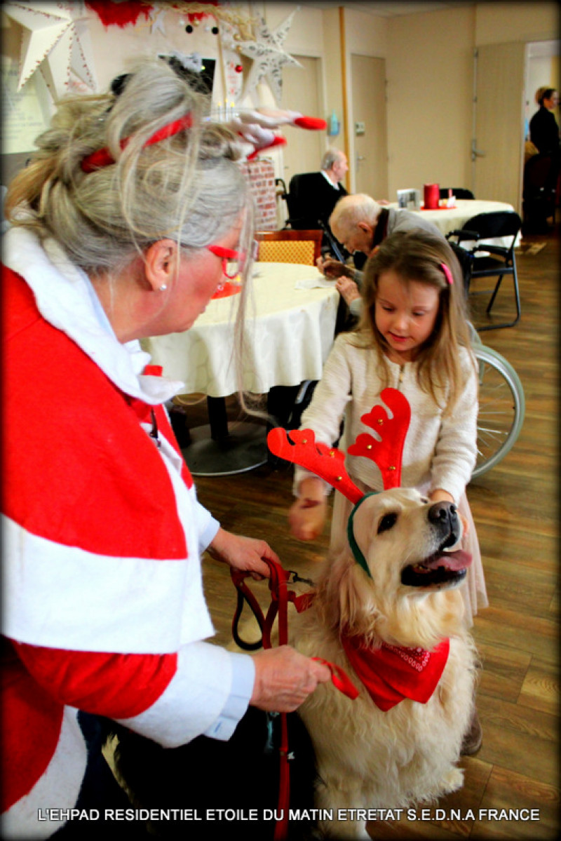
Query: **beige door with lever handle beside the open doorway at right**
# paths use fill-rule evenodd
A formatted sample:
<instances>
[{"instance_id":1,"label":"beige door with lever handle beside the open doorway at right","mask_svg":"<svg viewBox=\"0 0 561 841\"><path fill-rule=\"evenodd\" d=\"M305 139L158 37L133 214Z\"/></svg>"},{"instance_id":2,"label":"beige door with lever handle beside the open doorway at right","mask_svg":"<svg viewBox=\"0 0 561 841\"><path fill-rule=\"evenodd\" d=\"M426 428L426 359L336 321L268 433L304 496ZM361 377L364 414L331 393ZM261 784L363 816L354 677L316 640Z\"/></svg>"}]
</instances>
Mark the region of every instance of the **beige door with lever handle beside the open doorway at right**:
<instances>
[{"instance_id":1,"label":"beige door with lever handle beside the open doorway at right","mask_svg":"<svg viewBox=\"0 0 561 841\"><path fill-rule=\"evenodd\" d=\"M508 202L521 212L524 137L523 42L478 48L475 198Z\"/></svg>"}]
</instances>

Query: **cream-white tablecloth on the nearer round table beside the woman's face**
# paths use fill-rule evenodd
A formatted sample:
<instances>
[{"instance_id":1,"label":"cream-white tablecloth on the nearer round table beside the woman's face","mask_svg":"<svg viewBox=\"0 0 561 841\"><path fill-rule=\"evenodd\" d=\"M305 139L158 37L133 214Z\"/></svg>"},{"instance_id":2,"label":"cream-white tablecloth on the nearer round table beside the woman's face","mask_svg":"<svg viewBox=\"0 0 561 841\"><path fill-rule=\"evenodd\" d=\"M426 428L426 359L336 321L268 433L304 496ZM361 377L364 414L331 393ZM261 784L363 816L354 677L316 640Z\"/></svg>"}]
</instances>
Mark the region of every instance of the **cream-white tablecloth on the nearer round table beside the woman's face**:
<instances>
[{"instance_id":1,"label":"cream-white tablecloth on the nearer round table beside the woman's face","mask_svg":"<svg viewBox=\"0 0 561 841\"><path fill-rule=\"evenodd\" d=\"M299 283L320 288L295 288ZM273 385L320 379L331 349L339 293L313 266L257 262L246 307L243 388L265 394ZM142 341L164 374L185 383L184 394L227 397L237 390L232 358L240 296L210 301L183 333Z\"/></svg>"}]
</instances>

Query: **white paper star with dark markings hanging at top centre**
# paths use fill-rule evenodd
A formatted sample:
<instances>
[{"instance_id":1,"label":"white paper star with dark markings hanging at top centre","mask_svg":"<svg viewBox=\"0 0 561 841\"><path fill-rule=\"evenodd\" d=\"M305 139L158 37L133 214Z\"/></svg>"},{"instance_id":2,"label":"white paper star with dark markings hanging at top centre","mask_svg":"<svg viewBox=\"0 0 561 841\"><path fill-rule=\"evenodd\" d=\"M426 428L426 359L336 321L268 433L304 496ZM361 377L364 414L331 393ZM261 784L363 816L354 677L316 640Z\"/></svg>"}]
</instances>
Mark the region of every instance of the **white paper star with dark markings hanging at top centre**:
<instances>
[{"instance_id":1,"label":"white paper star with dark markings hanging at top centre","mask_svg":"<svg viewBox=\"0 0 561 841\"><path fill-rule=\"evenodd\" d=\"M247 56L253 60L251 70L246 79L246 84L241 96L245 99L255 90L256 86L261 82L263 77L267 77L267 81L273 91L273 96L278 105L283 98L283 71L282 67L285 64L301 67L302 65L295 58L288 55L283 49L283 42L288 34L288 29L292 24L294 12L288 15L288 18L279 24L277 29L269 29L264 19L260 19L257 24L257 38L255 41L240 41L237 43L237 50L242 56Z\"/></svg>"}]
</instances>

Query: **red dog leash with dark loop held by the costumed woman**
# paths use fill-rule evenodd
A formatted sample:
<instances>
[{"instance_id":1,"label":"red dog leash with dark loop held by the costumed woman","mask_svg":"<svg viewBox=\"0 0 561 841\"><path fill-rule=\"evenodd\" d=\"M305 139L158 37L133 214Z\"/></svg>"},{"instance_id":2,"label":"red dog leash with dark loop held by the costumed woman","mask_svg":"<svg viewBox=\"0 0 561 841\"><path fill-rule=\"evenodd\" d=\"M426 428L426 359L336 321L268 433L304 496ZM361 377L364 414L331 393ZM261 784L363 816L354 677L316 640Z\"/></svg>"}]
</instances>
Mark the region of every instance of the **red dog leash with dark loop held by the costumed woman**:
<instances>
[{"instance_id":1,"label":"red dog leash with dark loop held by the costumed woman","mask_svg":"<svg viewBox=\"0 0 561 841\"><path fill-rule=\"evenodd\" d=\"M238 600L236 605L236 613L232 620L232 636L240 648L246 650L256 650L257 648L272 648L271 632L273 629L273 622L278 616L278 644L286 645L288 643L288 601L292 601L297 611L303 611L310 606L311 600L308 594L304 596L296 595L294 590L288 590L288 579L290 572L283 569L283 567L275 561L262 558L267 563L270 569L269 576L269 590L271 591L271 604L267 610L267 615L263 614L261 606L256 597L251 593L251 590L246 584L246 578L251 573L241 569L230 569L232 581L236 585L238 591ZM244 600L251 607L253 615L257 619L257 623L262 632L262 640L257 643L244 642L238 633L238 623L243 610ZM329 663L320 657L312 658L319 663L324 664L331 671L331 681L336 689L343 692L347 697L354 700L358 696L358 690L348 675L339 666ZM280 769L278 780L278 813L281 817L275 826L273 841L285 841L288 836L288 803L290 799L290 771L288 768L288 722L285 712L280 713L281 722L281 740L280 740Z\"/></svg>"}]
</instances>

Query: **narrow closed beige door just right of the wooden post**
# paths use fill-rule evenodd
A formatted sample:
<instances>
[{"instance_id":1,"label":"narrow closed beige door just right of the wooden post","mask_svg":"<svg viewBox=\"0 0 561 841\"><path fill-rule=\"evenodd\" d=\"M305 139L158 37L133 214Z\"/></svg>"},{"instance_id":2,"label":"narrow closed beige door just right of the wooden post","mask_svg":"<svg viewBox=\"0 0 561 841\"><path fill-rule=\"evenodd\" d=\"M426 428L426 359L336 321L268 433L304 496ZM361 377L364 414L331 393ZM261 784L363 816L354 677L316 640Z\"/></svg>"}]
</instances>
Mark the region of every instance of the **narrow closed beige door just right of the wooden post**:
<instances>
[{"instance_id":1,"label":"narrow closed beige door just right of the wooden post","mask_svg":"<svg viewBox=\"0 0 561 841\"><path fill-rule=\"evenodd\" d=\"M388 198L388 133L385 61L351 56L352 114L349 126L354 193Z\"/></svg>"}]
</instances>

